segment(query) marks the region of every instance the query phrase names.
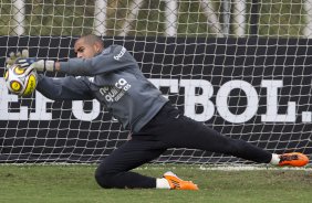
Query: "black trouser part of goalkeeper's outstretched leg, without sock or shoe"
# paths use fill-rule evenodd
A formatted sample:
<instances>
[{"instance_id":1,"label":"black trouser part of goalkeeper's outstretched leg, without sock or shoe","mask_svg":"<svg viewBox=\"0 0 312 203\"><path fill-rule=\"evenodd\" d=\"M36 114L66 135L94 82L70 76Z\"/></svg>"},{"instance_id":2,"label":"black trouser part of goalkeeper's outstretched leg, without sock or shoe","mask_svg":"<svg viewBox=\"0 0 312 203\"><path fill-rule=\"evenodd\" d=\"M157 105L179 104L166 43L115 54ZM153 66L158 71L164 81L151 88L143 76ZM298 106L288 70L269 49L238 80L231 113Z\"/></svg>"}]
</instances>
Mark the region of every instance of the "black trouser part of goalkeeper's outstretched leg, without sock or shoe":
<instances>
[{"instance_id":1,"label":"black trouser part of goalkeeper's outstretched leg, without sock or shoe","mask_svg":"<svg viewBox=\"0 0 312 203\"><path fill-rule=\"evenodd\" d=\"M272 159L270 152L257 146L222 136L218 131L184 116L173 121L170 128L173 136L168 136L166 140L177 147L185 146L185 148L230 154L259 163L269 163ZM175 133L179 135L179 140L175 138Z\"/></svg>"}]
</instances>

